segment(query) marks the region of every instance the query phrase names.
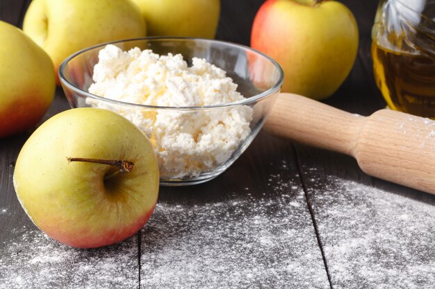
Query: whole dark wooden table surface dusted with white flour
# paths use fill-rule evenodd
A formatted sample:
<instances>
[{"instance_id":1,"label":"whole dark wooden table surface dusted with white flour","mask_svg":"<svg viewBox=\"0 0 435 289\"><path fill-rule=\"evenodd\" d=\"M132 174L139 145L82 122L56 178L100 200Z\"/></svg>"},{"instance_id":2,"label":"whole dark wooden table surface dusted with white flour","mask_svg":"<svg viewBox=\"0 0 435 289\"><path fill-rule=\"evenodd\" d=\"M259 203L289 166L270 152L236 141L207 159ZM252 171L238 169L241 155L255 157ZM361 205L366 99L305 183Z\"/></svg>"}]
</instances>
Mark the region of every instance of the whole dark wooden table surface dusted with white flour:
<instances>
[{"instance_id":1,"label":"whole dark wooden table surface dusted with white flour","mask_svg":"<svg viewBox=\"0 0 435 289\"><path fill-rule=\"evenodd\" d=\"M222 0L217 38L249 44L262 2ZM0 0L0 19L21 26L28 3ZM359 55L325 102L368 115L385 106L370 60L377 1L343 3L359 24ZM68 108L58 89L44 120ZM435 288L435 196L265 132L213 181L162 187L151 220L128 240L61 245L33 225L13 189L30 134L0 139L0 288Z\"/></svg>"}]
</instances>

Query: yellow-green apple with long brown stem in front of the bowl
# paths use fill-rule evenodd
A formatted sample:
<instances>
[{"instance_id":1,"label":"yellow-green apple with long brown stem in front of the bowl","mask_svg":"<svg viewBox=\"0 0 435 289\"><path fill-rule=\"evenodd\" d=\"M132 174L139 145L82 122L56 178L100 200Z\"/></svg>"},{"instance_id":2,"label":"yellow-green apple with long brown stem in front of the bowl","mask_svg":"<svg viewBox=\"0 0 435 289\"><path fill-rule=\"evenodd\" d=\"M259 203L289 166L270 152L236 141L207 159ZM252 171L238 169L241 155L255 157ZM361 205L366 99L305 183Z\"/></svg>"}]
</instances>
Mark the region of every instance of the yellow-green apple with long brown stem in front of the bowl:
<instances>
[{"instance_id":1,"label":"yellow-green apple with long brown stem in front of the bowl","mask_svg":"<svg viewBox=\"0 0 435 289\"><path fill-rule=\"evenodd\" d=\"M13 181L35 225L81 248L135 234L154 211L159 185L145 134L115 112L90 107L61 112L35 130L19 152Z\"/></svg>"}]
</instances>

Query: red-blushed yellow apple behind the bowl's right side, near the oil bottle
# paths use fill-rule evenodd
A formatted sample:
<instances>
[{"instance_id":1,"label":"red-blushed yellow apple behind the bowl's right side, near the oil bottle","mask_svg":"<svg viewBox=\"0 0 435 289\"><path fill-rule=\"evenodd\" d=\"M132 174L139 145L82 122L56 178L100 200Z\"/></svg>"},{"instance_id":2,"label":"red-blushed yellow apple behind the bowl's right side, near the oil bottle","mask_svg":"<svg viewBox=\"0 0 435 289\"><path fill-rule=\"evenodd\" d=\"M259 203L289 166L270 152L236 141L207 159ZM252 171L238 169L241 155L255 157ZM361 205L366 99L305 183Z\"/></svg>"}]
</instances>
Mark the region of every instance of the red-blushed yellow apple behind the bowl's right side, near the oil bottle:
<instances>
[{"instance_id":1,"label":"red-blushed yellow apple behind the bowl's right side, near the oil bottle","mask_svg":"<svg viewBox=\"0 0 435 289\"><path fill-rule=\"evenodd\" d=\"M337 1L268 0L252 25L251 46L284 70L282 91L317 100L334 94L358 51L358 26Z\"/></svg>"}]
</instances>

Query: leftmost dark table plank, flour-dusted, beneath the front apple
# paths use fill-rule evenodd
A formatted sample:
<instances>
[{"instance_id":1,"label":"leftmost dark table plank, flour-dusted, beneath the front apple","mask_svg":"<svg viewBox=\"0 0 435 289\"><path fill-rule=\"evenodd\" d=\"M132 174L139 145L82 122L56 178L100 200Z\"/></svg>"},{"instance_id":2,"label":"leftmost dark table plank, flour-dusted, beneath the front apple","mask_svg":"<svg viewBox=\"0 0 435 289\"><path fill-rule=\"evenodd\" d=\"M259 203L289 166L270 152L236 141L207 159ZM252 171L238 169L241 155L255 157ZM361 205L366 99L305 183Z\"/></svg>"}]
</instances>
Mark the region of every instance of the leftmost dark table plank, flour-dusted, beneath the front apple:
<instances>
[{"instance_id":1,"label":"leftmost dark table plank, flour-dusted, beneath the front apple","mask_svg":"<svg viewBox=\"0 0 435 289\"><path fill-rule=\"evenodd\" d=\"M58 88L42 121L67 108ZM138 234L106 248L74 249L42 234L26 216L12 178L30 134L0 140L0 288L138 288Z\"/></svg>"}]
</instances>

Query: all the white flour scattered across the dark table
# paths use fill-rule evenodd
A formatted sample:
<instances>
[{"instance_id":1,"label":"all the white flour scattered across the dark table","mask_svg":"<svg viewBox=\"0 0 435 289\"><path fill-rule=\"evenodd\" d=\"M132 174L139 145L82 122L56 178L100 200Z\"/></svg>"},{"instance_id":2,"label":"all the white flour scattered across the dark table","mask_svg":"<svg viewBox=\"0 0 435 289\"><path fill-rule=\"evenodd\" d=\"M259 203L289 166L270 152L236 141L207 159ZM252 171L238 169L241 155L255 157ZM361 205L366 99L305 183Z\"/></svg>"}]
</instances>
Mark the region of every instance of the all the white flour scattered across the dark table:
<instances>
[{"instance_id":1,"label":"all the white flour scattered across the dark table","mask_svg":"<svg viewBox=\"0 0 435 289\"><path fill-rule=\"evenodd\" d=\"M17 229L0 247L0 288L329 288L304 191L288 173L281 164L268 193L163 198L140 238L106 248ZM434 288L434 198L306 174L332 288Z\"/></svg>"}]
</instances>

